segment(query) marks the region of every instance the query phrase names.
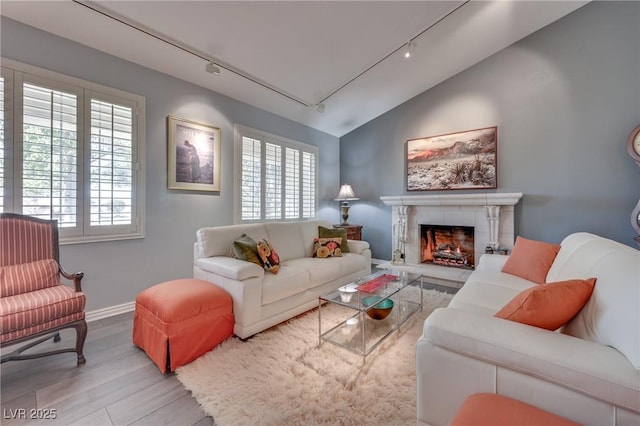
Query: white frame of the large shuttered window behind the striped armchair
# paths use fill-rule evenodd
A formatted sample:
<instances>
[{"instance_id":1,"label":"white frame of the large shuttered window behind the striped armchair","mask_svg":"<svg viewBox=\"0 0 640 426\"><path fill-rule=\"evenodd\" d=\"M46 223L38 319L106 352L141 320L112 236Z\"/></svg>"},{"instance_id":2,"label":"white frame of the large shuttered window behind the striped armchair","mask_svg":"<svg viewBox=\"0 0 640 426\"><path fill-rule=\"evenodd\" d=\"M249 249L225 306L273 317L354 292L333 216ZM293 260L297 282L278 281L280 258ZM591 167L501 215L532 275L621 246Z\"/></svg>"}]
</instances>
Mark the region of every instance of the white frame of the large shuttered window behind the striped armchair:
<instances>
[{"instance_id":1,"label":"white frame of the large shuttered window behind the striped armchair","mask_svg":"<svg viewBox=\"0 0 640 426\"><path fill-rule=\"evenodd\" d=\"M2 58L5 81L5 212L22 212L23 84L35 84L77 95L76 226L59 227L60 244L91 243L145 237L145 117L144 96ZM8 84L7 82L10 82ZM11 94L7 94L8 87ZM129 225L91 226L91 100L132 110L132 212ZM8 130L8 127L11 129Z\"/></svg>"}]
</instances>

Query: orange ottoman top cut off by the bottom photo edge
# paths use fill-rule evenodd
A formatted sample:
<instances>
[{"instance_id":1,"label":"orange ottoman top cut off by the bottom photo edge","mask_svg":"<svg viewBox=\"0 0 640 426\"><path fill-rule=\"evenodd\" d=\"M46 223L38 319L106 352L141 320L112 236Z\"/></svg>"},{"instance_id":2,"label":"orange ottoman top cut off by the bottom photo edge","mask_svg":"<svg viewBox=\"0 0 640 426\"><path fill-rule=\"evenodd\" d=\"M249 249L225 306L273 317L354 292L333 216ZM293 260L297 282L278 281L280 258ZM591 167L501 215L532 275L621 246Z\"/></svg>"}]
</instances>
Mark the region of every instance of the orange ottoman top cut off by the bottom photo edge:
<instances>
[{"instance_id":1,"label":"orange ottoman top cut off by the bottom photo edge","mask_svg":"<svg viewBox=\"0 0 640 426\"><path fill-rule=\"evenodd\" d=\"M464 400L450 426L580 426L517 399L477 393Z\"/></svg>"}]
</instances>

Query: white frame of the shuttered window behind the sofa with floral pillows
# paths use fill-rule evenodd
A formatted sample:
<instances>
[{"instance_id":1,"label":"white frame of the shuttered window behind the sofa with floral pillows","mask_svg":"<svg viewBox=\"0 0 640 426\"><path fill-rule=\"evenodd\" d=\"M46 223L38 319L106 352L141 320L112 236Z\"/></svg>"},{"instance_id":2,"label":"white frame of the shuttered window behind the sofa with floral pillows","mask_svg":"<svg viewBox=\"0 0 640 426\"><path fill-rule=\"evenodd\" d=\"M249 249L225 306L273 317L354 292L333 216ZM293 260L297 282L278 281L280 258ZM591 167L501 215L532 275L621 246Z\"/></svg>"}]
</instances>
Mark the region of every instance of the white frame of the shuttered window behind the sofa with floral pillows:
<instances>
[{"instance_id":1,"label":"white frame of the shuttered window behind the sofa with floral pillows","mask_svg":"<svg viewBox=\"0 0 640 426\"><path fill-rule=\"evenodd\" d=\"M261 144L261 204L260 204L260 218L258 219L242 219L242 139L246 137L253 140L260 141ZM277 145L282 149L281 157L282 162L286 161L286 149L294 149L299 151L300 153L309 153L314 156L314 200L313 200L313 217L304 217L305 204L303 200L303 178L307 175L303 172L304 161L302 155L299 156L299 164L298 164L298 217L296 218L287 218L286 217L286 178L287 174L282 173L281 175L281 203L282 209L280 212L279 218L267 219L266 211L265 211L265 170L264 170L264 160L265 160L265 144ZM319 148L314 145L310 145L307 143L303 143L300 141L296 141L293 139L285 138L283 136L274 135L272 133L268 133L262 130L257 130L248 126L244 126L241 124L234 125L234 203L233 203L233 220L236 224L242 223L258 223L258 222L294 222L301 220L313 220L318 217L318 206L319 206L319 197L318 197L318 187L319 187Z\"/></svg>"}]
</instances>

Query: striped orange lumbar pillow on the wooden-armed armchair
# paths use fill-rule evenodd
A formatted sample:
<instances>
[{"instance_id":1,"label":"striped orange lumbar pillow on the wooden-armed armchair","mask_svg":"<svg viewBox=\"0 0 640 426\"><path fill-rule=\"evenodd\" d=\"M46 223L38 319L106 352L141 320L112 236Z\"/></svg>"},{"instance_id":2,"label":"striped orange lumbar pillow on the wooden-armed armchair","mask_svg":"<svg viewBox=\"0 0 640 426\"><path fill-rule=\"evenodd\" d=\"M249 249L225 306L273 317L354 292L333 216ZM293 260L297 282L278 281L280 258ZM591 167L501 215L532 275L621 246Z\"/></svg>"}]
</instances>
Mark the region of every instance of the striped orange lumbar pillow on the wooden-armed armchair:
<instances>
[{"instance_id":1,"label":"striped orange lumbar pillow on the wooden-armed armchair","mask_svg":"<svg viewBox=\"0 0 640 426\"><path fill-rule=\"evenodd\" d=\"M43 259L1 266L0 283L0 297L53 287L60 284L58 263L53 259Z\"/></svg>"}]
</instances>

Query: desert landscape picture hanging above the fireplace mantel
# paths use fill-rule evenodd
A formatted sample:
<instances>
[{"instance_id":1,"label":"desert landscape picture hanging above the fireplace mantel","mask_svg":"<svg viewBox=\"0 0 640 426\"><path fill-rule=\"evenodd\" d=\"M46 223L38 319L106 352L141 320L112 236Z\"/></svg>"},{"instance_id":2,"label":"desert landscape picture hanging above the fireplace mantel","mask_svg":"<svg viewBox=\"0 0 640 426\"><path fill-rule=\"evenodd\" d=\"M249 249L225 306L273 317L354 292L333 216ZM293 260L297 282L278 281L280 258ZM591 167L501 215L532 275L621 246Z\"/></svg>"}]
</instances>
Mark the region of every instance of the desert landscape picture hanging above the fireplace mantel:
<instances>
[{"instance_id":1,"label":"desert landscape picture hanging above the fireplace mantel","mask_svg":"<svg viewBox=\"0 0 640 426\"><path fill-rule=\"evenodd\" d=\"M498 187L498 127L410 139L407 191Z\"/></svg>"}]
</instances>

